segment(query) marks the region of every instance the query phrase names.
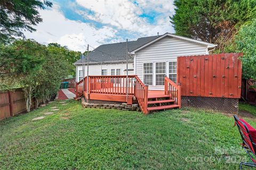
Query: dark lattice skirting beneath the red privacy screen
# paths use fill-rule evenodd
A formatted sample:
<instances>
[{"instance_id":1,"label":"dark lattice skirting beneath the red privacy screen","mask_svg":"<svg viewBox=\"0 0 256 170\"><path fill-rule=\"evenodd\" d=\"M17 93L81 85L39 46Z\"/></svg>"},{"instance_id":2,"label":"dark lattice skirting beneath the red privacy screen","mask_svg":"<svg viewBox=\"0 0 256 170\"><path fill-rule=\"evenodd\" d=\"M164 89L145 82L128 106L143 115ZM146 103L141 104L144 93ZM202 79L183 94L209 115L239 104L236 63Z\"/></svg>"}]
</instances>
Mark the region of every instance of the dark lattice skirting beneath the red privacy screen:
<instances>
[{"instance_id":1,"label":"dark lattice skirting beneath the red privacy screen","mask_svg":"<svg viewBox=\"0 0 256 170\"><path fill-rule=\"evenodd\" d=\"M206 111L238 113L238 99L220 97L182 96L181 107L192 107Z\"/></svg>"}]
</instances>

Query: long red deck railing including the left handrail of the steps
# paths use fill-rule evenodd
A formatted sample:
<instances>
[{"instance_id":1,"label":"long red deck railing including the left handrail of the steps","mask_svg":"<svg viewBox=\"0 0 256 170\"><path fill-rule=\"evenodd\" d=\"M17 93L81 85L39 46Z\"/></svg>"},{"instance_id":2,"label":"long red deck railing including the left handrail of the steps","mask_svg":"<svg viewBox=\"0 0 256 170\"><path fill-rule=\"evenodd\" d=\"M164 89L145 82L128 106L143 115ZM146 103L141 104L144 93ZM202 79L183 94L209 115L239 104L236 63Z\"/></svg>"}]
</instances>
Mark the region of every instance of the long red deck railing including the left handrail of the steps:
<instances>
[{"instance_id":1,"label":"long red deck railing including the left handrail of the steps","mask_svg":"<svg viewBox=\"0 0 256 170\"><path fill-rule=\"evenodd\" d=\"M110 95L126 95L135 96L140 105L141 111L148 113L148 86L142 83L137 75L90 75L88 94L110 94ZM87 93L87 77L84 81L76 83L76 98ZM86 98L90 98L86 95Z\"/></svg>"}]
</instances>

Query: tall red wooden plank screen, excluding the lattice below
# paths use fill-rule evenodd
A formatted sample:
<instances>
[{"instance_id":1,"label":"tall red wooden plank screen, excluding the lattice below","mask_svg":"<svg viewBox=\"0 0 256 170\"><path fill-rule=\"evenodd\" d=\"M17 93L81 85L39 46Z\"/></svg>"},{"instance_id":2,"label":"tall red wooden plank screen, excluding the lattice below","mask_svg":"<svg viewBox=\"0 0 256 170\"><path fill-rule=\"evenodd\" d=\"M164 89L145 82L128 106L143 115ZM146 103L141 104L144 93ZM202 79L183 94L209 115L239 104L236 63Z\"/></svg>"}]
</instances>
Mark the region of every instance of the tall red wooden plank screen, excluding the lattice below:
<instances>
[{"instance_id":1,"label":"tall red wooden plank screen, excluding the lattice below","mask_svg":"<svg viewBox=\"0 0 256 170\"><path fill-rule=\"evenodd\" d=\"M240 98L241 53L178 57L181 96Z\"/></svg>"}]
</instances>

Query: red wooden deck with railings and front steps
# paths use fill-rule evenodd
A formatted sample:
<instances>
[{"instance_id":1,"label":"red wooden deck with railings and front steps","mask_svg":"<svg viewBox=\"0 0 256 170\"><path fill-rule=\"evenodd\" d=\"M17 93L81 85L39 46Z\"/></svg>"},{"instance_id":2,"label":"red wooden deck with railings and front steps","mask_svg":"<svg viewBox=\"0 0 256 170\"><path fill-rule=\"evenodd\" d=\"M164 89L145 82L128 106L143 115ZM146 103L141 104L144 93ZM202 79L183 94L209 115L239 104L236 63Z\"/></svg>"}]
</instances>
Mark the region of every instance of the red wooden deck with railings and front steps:
<instances>
[{"instance_id":1,"label":"red wooden deck with railings and front steps","mask_svg":"<svg viewBox=\"0 0 256 170\"><path fill-rule=\"evenodd\" d=\"M180 86L165 77L164 90L148 90L137 75L89 76L76 84L76 98L84 96L90 100L118 101L128 105L138 103L141 111L180 107ZM126 95L127 93L127 95Z\"/></svg>"}]
</instances>

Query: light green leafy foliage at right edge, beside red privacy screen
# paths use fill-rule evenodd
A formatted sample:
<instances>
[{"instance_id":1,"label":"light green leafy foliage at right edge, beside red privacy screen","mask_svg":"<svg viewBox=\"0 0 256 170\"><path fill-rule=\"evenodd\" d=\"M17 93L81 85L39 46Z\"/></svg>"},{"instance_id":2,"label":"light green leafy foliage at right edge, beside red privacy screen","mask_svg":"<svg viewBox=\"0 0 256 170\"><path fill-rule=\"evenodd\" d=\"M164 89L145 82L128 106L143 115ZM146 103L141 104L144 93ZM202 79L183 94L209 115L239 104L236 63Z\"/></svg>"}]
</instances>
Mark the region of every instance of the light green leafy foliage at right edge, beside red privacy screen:
<instances>
[{"instance_id":1,"label":"light green leafy foliage at right edge, beside red privacy screen","mask_svg":"<svg viewBox=\"0 0 256 170\"><path fill-rule=\"evenodd\" d=\"M256 80L256 19L243 25L235 36L236 52L243 52L243 77Z\"/></svg>"}]
</instances>

